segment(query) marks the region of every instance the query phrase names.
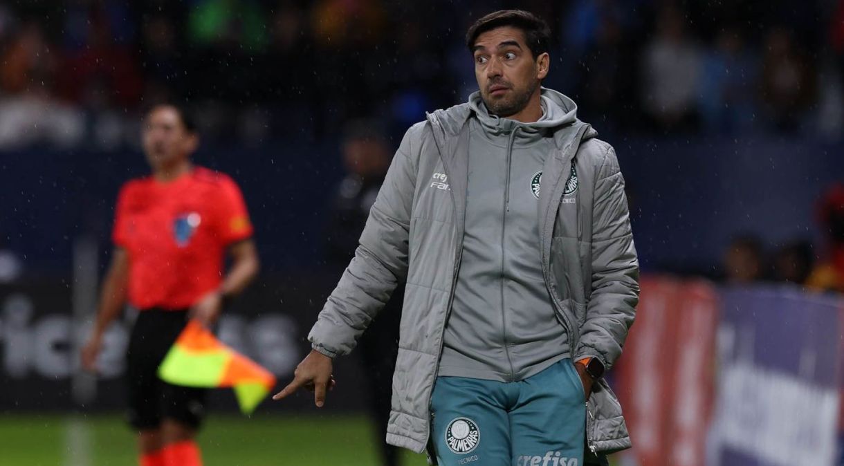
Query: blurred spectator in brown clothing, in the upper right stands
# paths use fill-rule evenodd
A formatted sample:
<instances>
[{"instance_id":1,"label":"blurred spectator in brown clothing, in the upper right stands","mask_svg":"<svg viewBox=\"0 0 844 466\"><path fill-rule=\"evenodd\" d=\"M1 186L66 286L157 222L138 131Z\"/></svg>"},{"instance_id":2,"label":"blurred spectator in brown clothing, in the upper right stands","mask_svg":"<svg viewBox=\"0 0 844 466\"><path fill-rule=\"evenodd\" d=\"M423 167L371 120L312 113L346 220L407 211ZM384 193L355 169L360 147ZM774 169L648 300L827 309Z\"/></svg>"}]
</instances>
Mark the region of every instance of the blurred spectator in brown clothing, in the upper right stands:
<instances>
[{"instance_id":1,"label":"blurred spectator in brown clothing, in the upper right stands","mask_svg":"<svg viewBox=\"0 0 844 466\"><path fill-rule=\"evenodd\" d=\"M764 51L760 89L766 112L777 131L793 133L814 103L814 70L782 27L768 32Z\"/></svg>"}]
</instances>

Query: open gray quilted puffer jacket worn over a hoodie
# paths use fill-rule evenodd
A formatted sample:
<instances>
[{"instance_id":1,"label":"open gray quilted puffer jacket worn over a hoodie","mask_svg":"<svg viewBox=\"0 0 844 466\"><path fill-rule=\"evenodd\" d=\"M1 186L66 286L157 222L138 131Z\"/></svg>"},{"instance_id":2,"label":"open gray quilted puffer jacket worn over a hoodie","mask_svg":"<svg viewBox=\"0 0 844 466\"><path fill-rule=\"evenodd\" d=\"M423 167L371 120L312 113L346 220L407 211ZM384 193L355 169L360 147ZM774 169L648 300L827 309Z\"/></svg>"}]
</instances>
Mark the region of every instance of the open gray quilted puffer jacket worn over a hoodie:
<instances>
[{"instance_id":1,"label":"open gray quilted puffer jacket worn over a hoodie","mask_svg":"<svg viewBox=\"0 0 844 466\"><path fill-rule=\"evenodd\" d=\"M576 112L565 95L542 92ZM468 104L454 106L405 134L360 247L309 335L322 354L349 353L407 279L387 442L415 452L429 442L430 394L460 267L470 118ZM538 219L544 279L572 356L597 357L609 369L634 319L639 268L624 179L613 148L596 135L576 119L556 129ZM594 453L603 460L630 447L619 402L603 380L587 409L587 463L596 462Z\"/></svg>"}]
</instances>

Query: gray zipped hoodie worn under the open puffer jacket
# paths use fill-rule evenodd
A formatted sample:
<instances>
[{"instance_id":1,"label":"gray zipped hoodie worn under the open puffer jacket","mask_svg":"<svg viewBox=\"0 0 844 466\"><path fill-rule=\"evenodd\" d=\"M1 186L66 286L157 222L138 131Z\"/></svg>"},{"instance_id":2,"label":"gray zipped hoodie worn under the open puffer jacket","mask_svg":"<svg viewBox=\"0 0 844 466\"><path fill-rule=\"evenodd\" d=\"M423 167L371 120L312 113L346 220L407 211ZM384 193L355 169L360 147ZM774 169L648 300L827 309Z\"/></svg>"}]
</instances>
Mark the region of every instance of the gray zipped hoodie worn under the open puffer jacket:
<instances>
[{"instance_id":1,"label":"gray zipped hoodie worn under the open puffer jacket","mask_svg":"<svg viewBox=\"0 0 844 466\"><path fill-rule=\"evenodd\" d=\"M569 356L568 335L542 274L537 209L554 130L575 121L576 106L566 99L545 93L543 116L522 123L490 115L478 92L469 98L475 118L469 122L463 260L440 376L512 382Z\"/></svg>"}]
</instances>

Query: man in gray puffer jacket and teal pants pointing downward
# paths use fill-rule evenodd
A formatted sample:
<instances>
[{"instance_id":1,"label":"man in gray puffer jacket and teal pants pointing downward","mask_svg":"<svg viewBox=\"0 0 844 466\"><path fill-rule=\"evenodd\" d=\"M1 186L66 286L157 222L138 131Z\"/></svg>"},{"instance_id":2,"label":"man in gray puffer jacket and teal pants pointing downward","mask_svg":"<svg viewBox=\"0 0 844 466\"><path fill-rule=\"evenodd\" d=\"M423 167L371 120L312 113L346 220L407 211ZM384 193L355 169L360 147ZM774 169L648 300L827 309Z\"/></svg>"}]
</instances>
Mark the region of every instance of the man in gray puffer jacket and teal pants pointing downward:
<instances>
[{"instance_id":1,"label":"man in gray puffer jacket and teal pants pointing downward","mask_svg":"<svg viewBox=\"0 0 844 466\"><path fill-rule=\"evenodd\" d=\"M405 135L275 398L311 387L322 406L333 358L406 277L387 442L448 466L574 466L584 445L591 462L630 446L602 377L638 301L624 181L574 102L541 87L549 41L523 11L468 30L479 92Z\"/></svg>"}]
</instances>

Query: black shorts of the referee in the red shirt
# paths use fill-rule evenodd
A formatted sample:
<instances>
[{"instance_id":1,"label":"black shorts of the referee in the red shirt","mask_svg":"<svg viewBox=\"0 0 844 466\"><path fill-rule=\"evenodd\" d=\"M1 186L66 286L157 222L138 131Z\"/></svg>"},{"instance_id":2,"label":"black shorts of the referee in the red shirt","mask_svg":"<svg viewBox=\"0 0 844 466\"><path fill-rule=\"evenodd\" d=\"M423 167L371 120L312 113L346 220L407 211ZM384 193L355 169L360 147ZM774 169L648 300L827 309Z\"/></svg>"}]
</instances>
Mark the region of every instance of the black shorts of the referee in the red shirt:
<instances>
[{"instance_id":1,"label":"black shorts of the referee in the red shirt","mask_svg":"<svg viewBox=\"0 0 844 466\"><path fill-rule=\"evenodd\" d=\"M143 431L176 420L197 429L205 412L207 389L163 382L158 367L187 325L187 310L144 309L132 328L127 350L129 424Z\"/></svg>"}]
</instances>

